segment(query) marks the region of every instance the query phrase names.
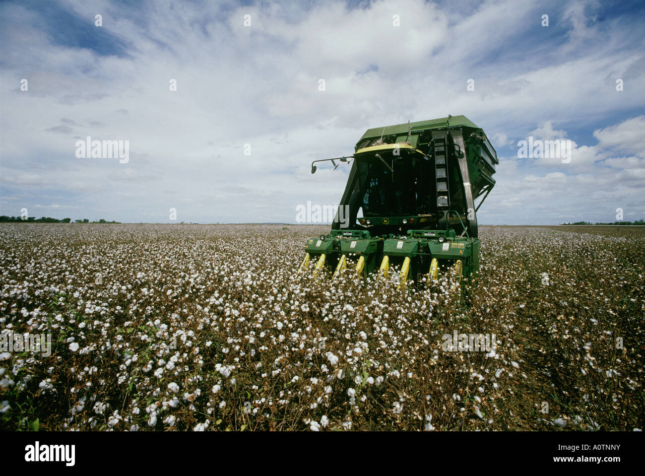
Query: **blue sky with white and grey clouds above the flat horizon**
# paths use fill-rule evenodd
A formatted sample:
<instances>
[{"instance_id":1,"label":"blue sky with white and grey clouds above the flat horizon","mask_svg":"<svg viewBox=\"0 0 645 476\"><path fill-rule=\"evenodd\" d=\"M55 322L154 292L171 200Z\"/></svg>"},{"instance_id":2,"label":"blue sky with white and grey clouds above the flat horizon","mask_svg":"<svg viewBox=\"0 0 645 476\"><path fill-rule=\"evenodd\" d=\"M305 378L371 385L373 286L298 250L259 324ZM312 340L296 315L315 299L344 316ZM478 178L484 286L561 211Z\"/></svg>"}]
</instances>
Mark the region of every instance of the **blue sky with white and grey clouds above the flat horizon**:
<instances>
[{"instance_id":1,"label":"blue sky with white and grey clouds above the flat horizon","mask_svg":"<svg viewBox=\"0 0 645 476\"><path fill-rule=\"evenodd\" d=\"M169 223L175 208L177 221L294 223L299 204L335 204L344 189L347 166L312 175L313 160L352 154L368 128L452 114L499 155L480 223L615 221L617 208L644 219L644 12L640 1L5 1L0 215ZM87 136L128 141L128 162L77 157ZM570 140L570 162L518 157L529 136Z\"/></svg>"}]
</instances>

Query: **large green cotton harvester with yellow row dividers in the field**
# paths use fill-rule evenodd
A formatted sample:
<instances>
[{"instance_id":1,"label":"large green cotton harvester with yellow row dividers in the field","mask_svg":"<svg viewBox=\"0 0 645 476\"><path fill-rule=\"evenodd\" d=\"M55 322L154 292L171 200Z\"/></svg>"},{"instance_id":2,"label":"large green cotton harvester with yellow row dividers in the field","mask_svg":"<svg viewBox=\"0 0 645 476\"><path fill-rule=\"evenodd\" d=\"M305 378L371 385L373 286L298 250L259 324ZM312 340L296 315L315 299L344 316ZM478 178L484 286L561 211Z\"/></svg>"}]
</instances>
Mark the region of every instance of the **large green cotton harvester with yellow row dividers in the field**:
<instances>
[{"instance_id":1,"label":"large green cotton harvester with yellow row dividers in the field","mask_svg":"<svg viewBox=\"0 0 645 476\"><path fill-rule=\"evenodd\" d=\"M331 233L307 242L299 271L315 261L315 274L388 277L397 265L399 286L410 276L419 286L440 268L455 282L479 270L476 212L499 164L483 130L462 115L369 129L352 156L324 160L352 159Z\"/></svg>"}]
</instances>

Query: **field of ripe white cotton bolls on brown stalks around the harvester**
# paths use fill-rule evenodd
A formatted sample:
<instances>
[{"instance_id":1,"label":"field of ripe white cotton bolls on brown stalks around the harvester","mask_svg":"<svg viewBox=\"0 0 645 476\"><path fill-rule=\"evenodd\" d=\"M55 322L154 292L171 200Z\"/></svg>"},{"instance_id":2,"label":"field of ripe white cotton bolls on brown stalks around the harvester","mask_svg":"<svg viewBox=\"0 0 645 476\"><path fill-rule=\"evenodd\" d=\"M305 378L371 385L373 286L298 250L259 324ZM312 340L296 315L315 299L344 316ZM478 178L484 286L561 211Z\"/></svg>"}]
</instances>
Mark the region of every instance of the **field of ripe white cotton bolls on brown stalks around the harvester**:
<instances>
[{"instance_id":1,"label":"field of ripe white cotton bolls on brown stalks around the harvester","mask_svg":"<svg viewBox=\"0 0 645 476\"><path fill-rule=\"evenodd\" d=\"M462 293L297 275L328 230L2 224L0 428L642 430L645 228L483 227Z\"/></svg>"}]
</instances>

